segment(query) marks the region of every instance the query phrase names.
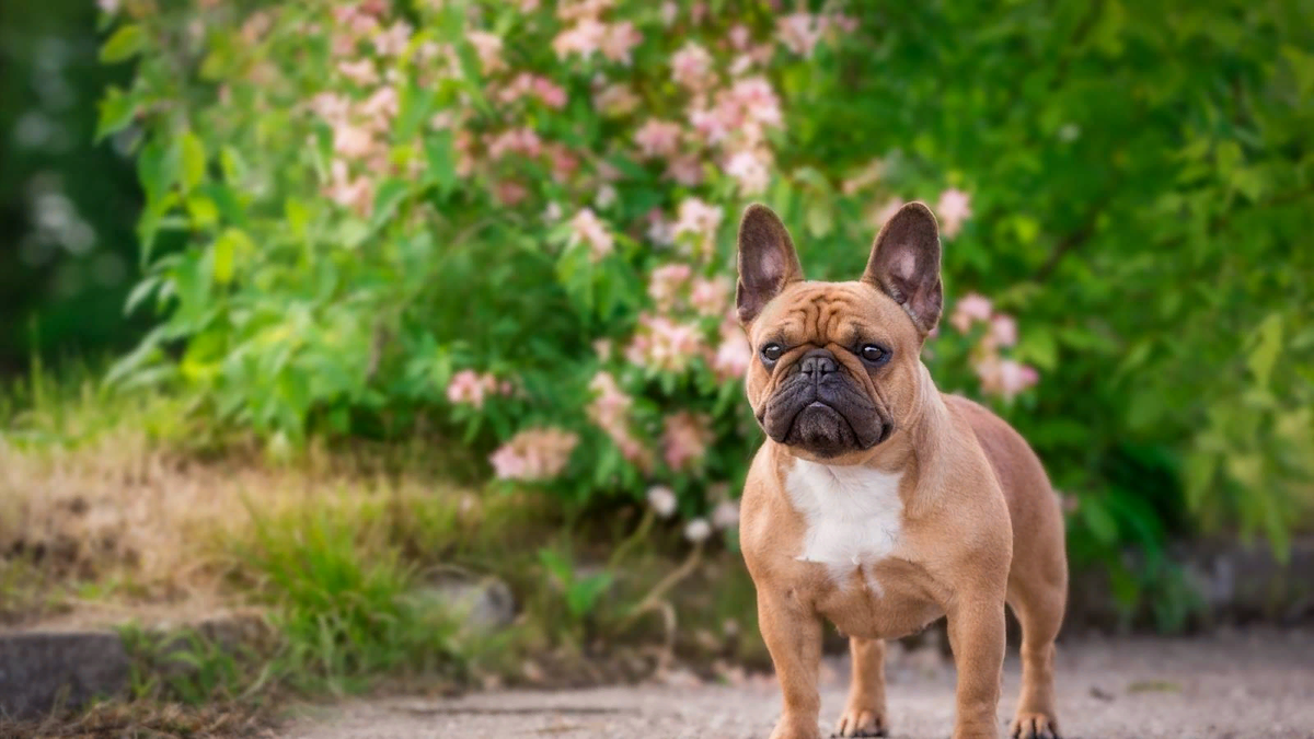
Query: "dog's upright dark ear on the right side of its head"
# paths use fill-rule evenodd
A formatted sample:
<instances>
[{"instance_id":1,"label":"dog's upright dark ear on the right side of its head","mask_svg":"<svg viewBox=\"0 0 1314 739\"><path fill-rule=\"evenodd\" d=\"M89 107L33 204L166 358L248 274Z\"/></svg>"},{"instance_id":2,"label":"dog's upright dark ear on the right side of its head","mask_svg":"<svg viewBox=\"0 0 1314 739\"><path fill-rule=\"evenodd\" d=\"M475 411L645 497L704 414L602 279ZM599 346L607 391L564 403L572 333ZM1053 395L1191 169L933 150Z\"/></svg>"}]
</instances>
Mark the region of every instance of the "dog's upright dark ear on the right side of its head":
<instances>
[{"instance_id":1,"label":"dog's upright dark ear on the right side of its head","mask_svg":"<svg viewBox=\"0 0 1314 739\"><path fill-rule=\"evenodd\" d=\"M940 284L940 226L930 208L909 203L886 222L862 280L901 305L922 337L936 327L945 288Z\"/></svg>"}]
</instances>

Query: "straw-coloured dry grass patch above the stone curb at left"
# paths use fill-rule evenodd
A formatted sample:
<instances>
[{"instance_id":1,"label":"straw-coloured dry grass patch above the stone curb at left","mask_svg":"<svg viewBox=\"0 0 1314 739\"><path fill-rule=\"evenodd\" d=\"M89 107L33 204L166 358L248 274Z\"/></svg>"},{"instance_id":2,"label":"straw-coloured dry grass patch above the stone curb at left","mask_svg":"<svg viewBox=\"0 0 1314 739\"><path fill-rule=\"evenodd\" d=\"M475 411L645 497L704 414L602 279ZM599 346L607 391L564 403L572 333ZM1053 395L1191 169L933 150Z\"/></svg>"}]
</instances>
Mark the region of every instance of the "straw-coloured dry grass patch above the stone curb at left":
<instances>
[{"instance_id":1,"label":"straw-coloured dry grass patch above the stone curb at left","mask_svg":"<svg viewBox=\"0 0 1314 739\"><path fill-rule=\"evenodd\" d=\"M223 604L233 542L256 517L347 514L422 501L474 523L487 506L396 450L310 452L276 464L238 447L202 456L117 425L79 443L0 435L0 622L122 622L210 614ZM440 514L439 514L440 515ZM57 589L41 585L59 583Z\"/></svg>"}]
</instances>

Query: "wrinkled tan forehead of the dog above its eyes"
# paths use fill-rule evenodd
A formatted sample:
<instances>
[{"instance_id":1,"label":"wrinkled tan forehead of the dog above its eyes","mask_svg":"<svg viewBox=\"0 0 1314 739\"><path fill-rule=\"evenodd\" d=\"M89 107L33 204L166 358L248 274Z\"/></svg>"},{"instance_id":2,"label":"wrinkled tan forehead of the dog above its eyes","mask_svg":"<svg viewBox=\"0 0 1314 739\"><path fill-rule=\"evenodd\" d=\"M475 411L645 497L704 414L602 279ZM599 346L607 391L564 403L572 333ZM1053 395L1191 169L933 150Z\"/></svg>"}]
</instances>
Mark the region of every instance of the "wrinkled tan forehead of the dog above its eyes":
<instances>
[{"instance_id":1,"label":"wrinkled tan forehead of the dog above its eyes","mask_svg":"<svg viewBox=\"0 0 1314 739\"><path fill-rule=\"evenodd\" d=\"M899 304L866 283L795 283L753 322L754 343L850 345L915 333Z\"/></svg>"}]
</instances>

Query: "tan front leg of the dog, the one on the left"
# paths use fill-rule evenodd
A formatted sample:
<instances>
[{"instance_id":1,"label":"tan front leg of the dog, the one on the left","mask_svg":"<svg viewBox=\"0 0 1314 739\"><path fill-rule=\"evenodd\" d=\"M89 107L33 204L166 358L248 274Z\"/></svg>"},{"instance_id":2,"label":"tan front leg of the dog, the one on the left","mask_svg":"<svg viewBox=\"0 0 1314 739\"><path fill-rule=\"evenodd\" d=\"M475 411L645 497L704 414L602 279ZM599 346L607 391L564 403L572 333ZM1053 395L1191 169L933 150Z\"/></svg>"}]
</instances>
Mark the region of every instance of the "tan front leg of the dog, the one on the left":
<instances>
[{"instance_id":1,"label":"tan front leg of the dog, the one on the left","mask_svg":"<svg viewBox=\"0 0 1314 739\"><path fill-rule=\"evenodd\" d=\"M771 739L819 739L820 617L792 594L758 590L757 618L784 696L784 710Z\"/></svg>"}]
</instances>

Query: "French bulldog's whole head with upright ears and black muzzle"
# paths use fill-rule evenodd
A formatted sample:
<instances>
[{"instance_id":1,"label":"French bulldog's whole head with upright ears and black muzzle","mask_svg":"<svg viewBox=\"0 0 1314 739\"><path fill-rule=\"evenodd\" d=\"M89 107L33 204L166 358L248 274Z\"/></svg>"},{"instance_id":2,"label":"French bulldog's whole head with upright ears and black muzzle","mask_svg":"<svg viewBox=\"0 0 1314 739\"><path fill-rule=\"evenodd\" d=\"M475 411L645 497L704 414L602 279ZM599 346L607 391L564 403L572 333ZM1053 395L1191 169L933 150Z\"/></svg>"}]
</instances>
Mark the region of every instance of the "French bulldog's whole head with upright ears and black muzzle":
<instances>
[{"instance_id":1,"label":"French bulldog's whole head with upright ears and black muzzle","mask_svg":"<svg viewBox=\"0 0 1314 739\"><path fill-rule=\"evenodd\" d=\"M876 237L861 280L808 283L784 225L753 205L740 225L738 268L758 423L796 456L861 463L918 402L921 345L943 302L934 216L905 205Z\"/></svg>"}]
</instances>

